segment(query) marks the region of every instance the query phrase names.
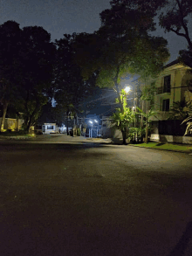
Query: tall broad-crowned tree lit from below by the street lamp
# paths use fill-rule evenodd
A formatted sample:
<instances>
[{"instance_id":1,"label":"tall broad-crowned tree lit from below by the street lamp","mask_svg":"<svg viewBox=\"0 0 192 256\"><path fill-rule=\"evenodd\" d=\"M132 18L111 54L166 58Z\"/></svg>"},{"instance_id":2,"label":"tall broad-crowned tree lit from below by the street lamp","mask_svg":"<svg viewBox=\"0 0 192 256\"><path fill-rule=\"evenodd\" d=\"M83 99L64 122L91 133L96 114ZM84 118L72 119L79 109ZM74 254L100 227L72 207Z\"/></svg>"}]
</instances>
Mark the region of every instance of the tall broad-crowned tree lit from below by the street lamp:
<instances>
[{"instance_id":1,"label":"tall broad-crowned tree lit from below by the street lamp","mask_svg":"<svg viewBox=\"0 0 192 256\"><path fill-rule=\"evenodd\" d=\"M87 37L86 42L91 41L92 45L88 43L89 47L79 48L81 55L86 52L89 56L88 66L82 64L83 58L79 58L83 76L87 78L93 71L98 71L97 85L114 88L121 114L124 114L120 99L121 78L128 73L138 73L141 77L154 76L169 57L167 41L148 35L148 31L154 30L154 25L147 17L147 11L140 10L136 5L133 8L131 1L127 2L129 4L113 1L111 9L100 14L99 31Z\"/></svg>"}]
</instances>

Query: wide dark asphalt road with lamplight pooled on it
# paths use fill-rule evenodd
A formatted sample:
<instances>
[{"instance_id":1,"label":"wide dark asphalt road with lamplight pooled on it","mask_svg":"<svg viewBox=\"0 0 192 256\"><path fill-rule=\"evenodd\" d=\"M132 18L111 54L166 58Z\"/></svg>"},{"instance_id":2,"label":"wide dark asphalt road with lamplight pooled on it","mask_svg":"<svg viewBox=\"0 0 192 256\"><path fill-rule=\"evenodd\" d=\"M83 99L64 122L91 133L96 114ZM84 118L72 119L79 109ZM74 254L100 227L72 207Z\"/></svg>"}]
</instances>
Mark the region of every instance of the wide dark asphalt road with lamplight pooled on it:
<instances>
[{"instance_id":1,"label":"wide dark asphalt road with lamplight pooled on it","mask_svg":"<svg viewBox=\"0 0 192 256\"><path fill-rule=\"evenodd\" d=\"M154 149L1 141L0 255L191 256L191 166Z\"/></svg>"}]
</instances>

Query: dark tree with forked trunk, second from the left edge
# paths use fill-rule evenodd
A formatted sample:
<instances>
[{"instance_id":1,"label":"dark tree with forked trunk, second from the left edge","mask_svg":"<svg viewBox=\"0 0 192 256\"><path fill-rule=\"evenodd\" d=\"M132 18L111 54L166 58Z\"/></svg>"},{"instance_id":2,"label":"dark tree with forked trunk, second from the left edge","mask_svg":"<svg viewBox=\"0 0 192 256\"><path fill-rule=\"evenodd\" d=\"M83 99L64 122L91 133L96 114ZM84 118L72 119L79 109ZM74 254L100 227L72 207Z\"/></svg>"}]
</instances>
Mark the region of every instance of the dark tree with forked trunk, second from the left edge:
<instances>
[{"instance_id":1,"label":"dark tree with forked trunk, second from the left edge","mask_svg":"<svg viewBox=\"0 0 192 256\"><path fill-rule=\"evenodd\" d=\"M24 131L28 133L38 120L41 108L52 96L55 46L51 43L51 35L42 27L24 27L19 54L22 91L18 107L24 113Z\"/></svg>"}]
</instances>

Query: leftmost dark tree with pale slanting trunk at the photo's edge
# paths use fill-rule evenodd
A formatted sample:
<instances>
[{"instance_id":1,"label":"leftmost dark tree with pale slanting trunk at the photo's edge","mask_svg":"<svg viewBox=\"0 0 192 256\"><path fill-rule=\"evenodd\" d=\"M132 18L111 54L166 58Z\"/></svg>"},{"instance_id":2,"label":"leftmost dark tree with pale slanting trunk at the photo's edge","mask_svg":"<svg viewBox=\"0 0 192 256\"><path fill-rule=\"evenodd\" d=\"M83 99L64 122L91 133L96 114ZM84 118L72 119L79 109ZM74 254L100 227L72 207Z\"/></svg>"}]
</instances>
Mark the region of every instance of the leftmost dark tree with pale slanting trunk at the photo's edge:
<instances>
[{"instance_id":1,"label":"leftmost dark tree with pale slanting trunk at the photo's edge","mask_svg":"<svg viewBox=\"0 0 192 256\"><path fill-rule=\"evenodd\" d=\"M9 104L15 104L19 98L18 73L20 73L19 51L21 49L21 30L19 24L7 21L0 26L0 104L3 117L0 131Z\"/></svg>"}]
</instances>

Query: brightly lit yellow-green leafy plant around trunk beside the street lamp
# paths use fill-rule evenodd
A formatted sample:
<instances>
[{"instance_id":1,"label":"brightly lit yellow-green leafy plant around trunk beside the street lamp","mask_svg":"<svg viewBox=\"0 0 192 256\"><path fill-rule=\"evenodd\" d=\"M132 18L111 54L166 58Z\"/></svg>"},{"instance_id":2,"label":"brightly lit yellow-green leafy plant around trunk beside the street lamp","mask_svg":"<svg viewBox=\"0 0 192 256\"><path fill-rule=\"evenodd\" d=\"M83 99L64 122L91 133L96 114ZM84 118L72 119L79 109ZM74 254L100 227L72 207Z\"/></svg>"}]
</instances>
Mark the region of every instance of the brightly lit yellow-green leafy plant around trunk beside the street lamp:
<instances>
[{"instance_id":1,"label":"brightly lit yellow-green leafy plant around trunk beside the street lamp","mask_svg":"<svg viewBox=\"0 0 192 256\"><path fill-rule=\"evenodd\" d=\"M117 107L116 112L112 115L112 123L114 123L115 126L120 129L123 135L123 144L126 145L128 128L130 126L130 123L134 121L134 111L130 110L130 108L127 107L127 93L125 92L125 90L121 90L120 100L117 98L116 102L122 102L123 113L121 111L121 108Z\"/></svg>"}]
</instances>

